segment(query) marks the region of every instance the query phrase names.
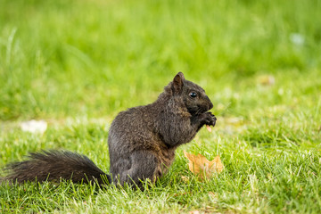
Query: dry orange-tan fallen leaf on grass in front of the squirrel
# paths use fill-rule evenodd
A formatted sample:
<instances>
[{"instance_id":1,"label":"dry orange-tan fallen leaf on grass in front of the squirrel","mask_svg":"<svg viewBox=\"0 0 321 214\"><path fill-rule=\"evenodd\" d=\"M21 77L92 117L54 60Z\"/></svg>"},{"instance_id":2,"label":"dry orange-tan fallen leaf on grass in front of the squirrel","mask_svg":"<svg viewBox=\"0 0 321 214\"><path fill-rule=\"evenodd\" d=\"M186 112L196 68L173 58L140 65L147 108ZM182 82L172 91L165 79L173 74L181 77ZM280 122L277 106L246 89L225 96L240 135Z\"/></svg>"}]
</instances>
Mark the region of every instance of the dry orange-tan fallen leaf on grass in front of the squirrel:
<instances>
[{"instance_id":1,"label":"dry orange-tan fallen leaf on grass in front of the squirrel","mask_svg":"<svg viewBox=\"0 0 321 214\"><path fill-rule=\"evenodd\" d=\"M184 155L189 161L188 168L202 179L210 178L214 173L219 174L224 168L219 155L213 161L207 160L202 154L193 155L184 151Z\"/></svg>"}]
</instances>

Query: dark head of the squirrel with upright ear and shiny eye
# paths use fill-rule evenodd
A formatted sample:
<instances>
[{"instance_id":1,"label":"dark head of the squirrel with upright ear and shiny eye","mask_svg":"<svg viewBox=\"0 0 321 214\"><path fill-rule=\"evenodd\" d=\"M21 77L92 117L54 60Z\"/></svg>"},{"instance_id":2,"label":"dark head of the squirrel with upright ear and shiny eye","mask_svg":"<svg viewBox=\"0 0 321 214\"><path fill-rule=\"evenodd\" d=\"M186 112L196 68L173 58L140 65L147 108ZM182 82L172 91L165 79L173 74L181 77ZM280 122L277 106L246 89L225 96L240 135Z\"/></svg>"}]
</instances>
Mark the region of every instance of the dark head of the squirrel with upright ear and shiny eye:
<instances>
[{"instance_id":1,"label":"dark head of the squirrel with upright ear and shiny eye","mask_svg":"<svg viewBox=\"0 0 321 214\"><path fill-rule=\"evenodd\" d=\"M171 84L174 96L180 96L185 107L192 114L200 114L213 108L209 97L201 86L185 79L182 72L178 72Z\"/></svg>"}]
</instances>

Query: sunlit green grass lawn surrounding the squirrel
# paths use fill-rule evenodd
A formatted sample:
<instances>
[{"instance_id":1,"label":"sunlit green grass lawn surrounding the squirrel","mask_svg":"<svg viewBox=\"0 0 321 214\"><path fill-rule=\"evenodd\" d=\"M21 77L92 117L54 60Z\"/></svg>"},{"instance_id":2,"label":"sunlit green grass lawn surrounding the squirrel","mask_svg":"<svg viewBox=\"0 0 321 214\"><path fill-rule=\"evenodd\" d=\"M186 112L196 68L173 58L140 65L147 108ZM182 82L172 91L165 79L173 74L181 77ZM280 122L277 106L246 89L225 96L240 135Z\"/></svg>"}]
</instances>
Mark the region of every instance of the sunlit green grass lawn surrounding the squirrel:
<instances>
[{"instance_id":1,"label":"sunlit green grass lawn surrounding the squirrel","mask_svg":"<svg viewBox=\"0 0 321 214\"><path fill-rule=\"evenodd\" d=\"M321 212L321 1L0 5L0 167L65 149L108 171L111 120L152 103L178 71L206 89L218 115L144 192L3 185L1 212ZM275 83L262 84L267 75ZM45 119L45 134L22 132L29 119ZM225 170L201 182L183 150L219 154Z\"/></svg>"}]
</instances>

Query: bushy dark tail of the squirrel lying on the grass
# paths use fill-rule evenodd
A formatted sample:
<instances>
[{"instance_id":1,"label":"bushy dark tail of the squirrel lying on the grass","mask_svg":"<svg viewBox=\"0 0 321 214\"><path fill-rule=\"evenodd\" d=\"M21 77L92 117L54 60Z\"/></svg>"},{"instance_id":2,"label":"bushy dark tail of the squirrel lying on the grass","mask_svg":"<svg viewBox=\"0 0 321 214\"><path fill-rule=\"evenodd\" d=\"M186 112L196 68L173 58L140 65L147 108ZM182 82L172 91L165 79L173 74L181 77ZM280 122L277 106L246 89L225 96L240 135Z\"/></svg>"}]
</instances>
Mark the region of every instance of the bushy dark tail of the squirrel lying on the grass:
<instances>
[{"instance_id":1,"label":"bushy dark tail of the squirrel lying on the grass","mask_svg":"<svg viewBox=\"0 0 321 214\"><path fill-rule=\"evenodd\" d=\"M72 180L74 183L111 183L111 177L99 169L85 155L65 151L30 153L27 161L13 162L5 167L8 176L0 181L23 183L26 181Z\"/></svg>"}]
</instances>

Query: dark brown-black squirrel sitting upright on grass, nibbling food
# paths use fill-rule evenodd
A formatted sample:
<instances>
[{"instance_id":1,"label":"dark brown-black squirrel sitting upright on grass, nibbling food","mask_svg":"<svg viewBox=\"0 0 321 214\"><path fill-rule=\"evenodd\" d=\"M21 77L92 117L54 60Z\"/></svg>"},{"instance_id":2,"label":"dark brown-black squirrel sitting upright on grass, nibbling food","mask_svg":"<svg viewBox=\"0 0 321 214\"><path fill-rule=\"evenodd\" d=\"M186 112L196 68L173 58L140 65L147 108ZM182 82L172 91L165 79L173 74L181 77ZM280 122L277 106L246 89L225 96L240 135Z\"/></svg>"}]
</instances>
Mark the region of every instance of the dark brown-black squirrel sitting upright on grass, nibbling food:
<instances>
[{"instance_id":1,"label":"dark brown-black squirrel sitting upright on grass, nibbling food","mask_svg":"<svg viewBox=\"0 0 321 214\"><path fill-rule=\"evenodd\" d=\"M189 143L203 125L215 126L213 104L201 86L185 79L182 72L164 87L151 104L121 111L111 123L108 136L110 175L85 155L66 151L30 153L27 161L13 162L1 182L71 180L99 185L124 185L144 189L169 169L175 150Z\"/></svg>"}]
</instances>

